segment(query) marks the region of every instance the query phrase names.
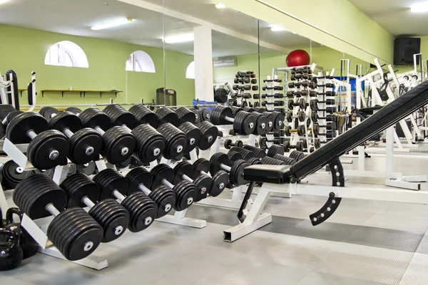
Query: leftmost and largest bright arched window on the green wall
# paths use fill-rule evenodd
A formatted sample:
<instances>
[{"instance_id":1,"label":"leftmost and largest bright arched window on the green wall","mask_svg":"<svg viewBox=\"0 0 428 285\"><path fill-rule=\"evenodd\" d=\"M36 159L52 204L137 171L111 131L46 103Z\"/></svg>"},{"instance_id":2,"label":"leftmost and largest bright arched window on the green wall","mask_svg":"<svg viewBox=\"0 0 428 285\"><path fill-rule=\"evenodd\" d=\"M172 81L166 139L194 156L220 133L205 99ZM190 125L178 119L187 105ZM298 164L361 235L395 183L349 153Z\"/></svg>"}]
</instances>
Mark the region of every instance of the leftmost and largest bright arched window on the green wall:
<instances>
[{"instance_id":1,"label":"leftmost and largest bright arched window on the green wall","mask_svg":"<svg viewBox=\"0 0 428 285\"><path fill-rule=\"evenodd\" d=\"M88 68L88 58L83 49L71 41L60 41L49 48L45 56L49 66L70 66Z\"/></svg>"}]
</instances>

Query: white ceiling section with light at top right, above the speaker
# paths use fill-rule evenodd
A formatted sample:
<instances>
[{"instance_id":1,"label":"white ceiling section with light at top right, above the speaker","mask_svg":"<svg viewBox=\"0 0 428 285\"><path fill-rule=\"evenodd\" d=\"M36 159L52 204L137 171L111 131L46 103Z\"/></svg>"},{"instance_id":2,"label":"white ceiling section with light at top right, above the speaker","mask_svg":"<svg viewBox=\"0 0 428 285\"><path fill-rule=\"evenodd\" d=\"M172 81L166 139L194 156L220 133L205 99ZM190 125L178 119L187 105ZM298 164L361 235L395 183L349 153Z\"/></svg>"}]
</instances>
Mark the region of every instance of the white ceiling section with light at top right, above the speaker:
<instances>
[{"instance_id":1,"label":"white ceiling section with light at top right, above the speaker","mask_svg":"<svg viewBox=\"0 0 428 285\"><path fill-rule=\"evenodd\" d=\"M414 14L410 7L427 0L349 0L393 36L427 36L428 13Z\"/></svg>"}]
</instances>

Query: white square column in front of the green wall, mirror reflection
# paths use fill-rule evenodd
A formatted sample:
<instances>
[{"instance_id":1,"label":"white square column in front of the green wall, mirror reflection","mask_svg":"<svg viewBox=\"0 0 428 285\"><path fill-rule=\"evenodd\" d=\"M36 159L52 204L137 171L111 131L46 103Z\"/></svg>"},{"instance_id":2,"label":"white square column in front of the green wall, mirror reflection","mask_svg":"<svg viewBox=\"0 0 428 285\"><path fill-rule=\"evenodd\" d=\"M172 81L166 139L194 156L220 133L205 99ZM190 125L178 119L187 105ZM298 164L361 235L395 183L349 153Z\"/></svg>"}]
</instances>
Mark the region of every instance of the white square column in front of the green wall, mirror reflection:
<instances>
[{"instance_id":1,"label":"white square column in front of the green wall, mirror reflection","mask_svg":"<svg viewBox=\"0 0 428 285\"><path fill-rule=\"evenodd\" d=\"M213 95L213 44L211 28L198 26L193 28L195 43L195 98L214 101Z\"/></svg>"}]
</instances>

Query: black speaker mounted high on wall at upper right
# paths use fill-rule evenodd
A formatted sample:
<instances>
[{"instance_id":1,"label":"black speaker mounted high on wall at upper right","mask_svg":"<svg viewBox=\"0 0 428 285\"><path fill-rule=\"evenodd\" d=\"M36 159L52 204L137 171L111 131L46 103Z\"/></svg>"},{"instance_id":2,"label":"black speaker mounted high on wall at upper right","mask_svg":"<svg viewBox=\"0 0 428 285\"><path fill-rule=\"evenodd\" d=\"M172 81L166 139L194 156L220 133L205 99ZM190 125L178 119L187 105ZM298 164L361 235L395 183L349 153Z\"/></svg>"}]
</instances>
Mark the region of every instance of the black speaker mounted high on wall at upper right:
<instances>
[{"instance_id":1,"label":"black speaker mounted high on wall at upper right","mask_svg":"<svg viewBox=\"0 0 428 285\"><path fill-rule=\"evenodd\" d=\"M420 38L395 38L394 65L413 66L413 55L420 52ZM417 64L419 64L419 57L417 58Z\"/></svg>"}]
</instances>

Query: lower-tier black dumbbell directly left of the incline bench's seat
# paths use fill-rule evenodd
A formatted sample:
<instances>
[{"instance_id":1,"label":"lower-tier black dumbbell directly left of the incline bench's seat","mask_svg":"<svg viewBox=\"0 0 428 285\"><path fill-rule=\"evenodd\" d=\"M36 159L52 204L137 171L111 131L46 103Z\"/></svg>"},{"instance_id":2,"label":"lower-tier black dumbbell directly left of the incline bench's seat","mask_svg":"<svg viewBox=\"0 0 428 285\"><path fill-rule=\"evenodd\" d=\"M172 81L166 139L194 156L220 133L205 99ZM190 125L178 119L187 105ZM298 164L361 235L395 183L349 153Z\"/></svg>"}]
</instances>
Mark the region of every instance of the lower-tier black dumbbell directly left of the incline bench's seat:
<instances>
[{"instance_id":1,"label":"lower-tier black dumbbell directly left of the incline bench's seat","mask_svg":"<svg viewBox=\"0 0 428 285\"><path fill-rule=\"evenodd\" d=\"M229 172L229 180L235 186L244 185L247 181L244 179L244 169L248 167L248 162L244 160L237 160L233 163L232 167L228 166L230 164L229 157L223 152L217 152L210 158L210 173L215 175L215 173L220 170L225 170Z\"/></svg>"}]
</instances>

